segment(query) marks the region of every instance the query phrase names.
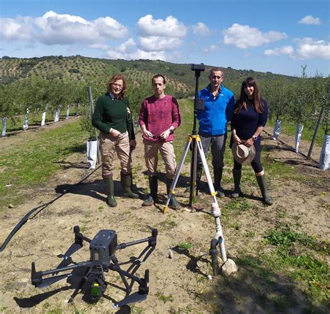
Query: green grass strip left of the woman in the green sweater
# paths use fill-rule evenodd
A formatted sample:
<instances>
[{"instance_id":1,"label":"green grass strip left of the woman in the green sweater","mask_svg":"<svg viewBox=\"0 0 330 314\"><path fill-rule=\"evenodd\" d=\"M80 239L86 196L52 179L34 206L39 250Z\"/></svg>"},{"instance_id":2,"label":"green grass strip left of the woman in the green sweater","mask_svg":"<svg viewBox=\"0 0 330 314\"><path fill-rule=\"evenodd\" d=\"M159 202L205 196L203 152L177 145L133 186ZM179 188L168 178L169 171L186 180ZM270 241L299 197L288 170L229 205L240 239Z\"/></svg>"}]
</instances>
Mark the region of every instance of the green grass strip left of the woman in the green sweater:
<instances>
[{"instance_id":1,"label":"green grass strip left of the woman in the green sweater","mask_svg":"<svg viewBox=\"0 0 330 314\"><path fill-rule=\"evenodd\" d=\"M12 146L9 151L2 150L0 208L21 202L24 199L21 193L23 189L47 182L61 169L65 157L86 149L85 138L76 121L56 129L45 129L44 132L33 134L19 146Z\"/></svg>"}]
</instances>

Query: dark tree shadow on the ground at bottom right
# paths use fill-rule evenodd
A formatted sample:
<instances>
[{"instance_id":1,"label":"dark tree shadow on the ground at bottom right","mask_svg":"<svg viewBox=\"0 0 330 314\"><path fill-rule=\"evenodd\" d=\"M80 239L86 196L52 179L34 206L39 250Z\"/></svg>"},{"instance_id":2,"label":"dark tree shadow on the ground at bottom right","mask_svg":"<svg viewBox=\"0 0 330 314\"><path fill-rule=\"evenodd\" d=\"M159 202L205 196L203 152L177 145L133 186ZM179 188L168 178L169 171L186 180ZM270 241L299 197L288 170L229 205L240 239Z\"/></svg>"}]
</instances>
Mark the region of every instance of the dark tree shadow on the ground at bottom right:
<instances>
[{"instance_id":1,"label":"dark tree shadow on the ground at bottom right","mask_svg":"<svg viewBox=\"0 0 330 314\"><path fill-rule=\"evenodd\" d=\"M326 304L313 304L292 279L272 272L258 258L235 262L235 276L217 276L200 295L217 313L329 313Z\"/></svg>"}]
</instances>

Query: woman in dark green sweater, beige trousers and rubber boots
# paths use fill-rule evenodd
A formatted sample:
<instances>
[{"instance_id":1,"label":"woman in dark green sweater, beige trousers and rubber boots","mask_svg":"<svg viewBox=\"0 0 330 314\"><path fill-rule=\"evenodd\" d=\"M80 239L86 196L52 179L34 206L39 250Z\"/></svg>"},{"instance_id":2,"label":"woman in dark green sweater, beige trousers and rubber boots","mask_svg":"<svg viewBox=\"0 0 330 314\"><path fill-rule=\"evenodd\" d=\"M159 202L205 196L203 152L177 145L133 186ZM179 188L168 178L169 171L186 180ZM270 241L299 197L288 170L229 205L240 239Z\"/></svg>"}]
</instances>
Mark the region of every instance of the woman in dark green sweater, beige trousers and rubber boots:
<instances>
[{"instance_id":1,"label":"woman in dark green sweater, beige trousers and rubber boots","mask_svg":"<svg viewBox=\"0 0 330 314\"><path fill-rule=\"evenodd\" d=\"M96 103L92 124L100 129L102 178L107 187L107 204L116 207L113 186L113 162L115 154L120 160L120 181L124 196L139 198L132 191L131 151L136 146L132 114L125 97L127 83L121 74L115 74L108 82L108 91Z\"/></svg>"}]
</instances>

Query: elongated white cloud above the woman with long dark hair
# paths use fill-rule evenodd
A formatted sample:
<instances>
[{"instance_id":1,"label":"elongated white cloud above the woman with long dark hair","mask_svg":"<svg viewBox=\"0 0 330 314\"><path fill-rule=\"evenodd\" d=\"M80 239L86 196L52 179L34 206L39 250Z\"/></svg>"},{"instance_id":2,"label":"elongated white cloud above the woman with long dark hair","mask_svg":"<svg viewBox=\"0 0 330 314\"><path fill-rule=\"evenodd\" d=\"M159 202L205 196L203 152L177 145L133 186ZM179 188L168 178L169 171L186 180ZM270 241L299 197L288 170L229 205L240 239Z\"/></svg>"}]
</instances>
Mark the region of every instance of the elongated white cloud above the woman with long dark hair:
<instances>
[{"instance_id":1,"label":"elongated white cloud above the woman with long dark hair","mask_svg":"<svg viewBox=\"0 0 330 314\"><path fill-rule=\"evenodd\" d=\"M238 48L246 49L249 47L258 47L267 42L275 42L287 38L285 33L278 31L269 31L262 33L256 27L249 25L233 24L229 29L223 31L223 42L226 45L235 45Z\"/></svg>"}]
</instances>

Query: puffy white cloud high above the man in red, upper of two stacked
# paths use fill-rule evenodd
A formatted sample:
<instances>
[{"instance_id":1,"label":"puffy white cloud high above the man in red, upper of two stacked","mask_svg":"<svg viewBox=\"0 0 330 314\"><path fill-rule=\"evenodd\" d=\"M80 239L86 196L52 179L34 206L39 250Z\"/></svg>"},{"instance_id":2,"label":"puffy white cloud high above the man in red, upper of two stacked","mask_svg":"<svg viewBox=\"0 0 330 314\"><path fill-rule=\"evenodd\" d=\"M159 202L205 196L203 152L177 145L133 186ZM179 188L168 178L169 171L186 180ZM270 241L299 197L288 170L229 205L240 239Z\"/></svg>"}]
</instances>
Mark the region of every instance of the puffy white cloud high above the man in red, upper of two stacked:
<instances>
[{"instance_id":1,"label":"puffy white cloud high above the man in red, upper of two stacked","mask_svg":"<svg viewBox=\"0 0 330 314\"><path fill-rule=\"evenodd\" d=\"M139 34L143 37L162 36L182 38L187 34L187 26L173 16L166 19L154 19L148 14L137 22Z\"/></svg>"}]
</instances>

